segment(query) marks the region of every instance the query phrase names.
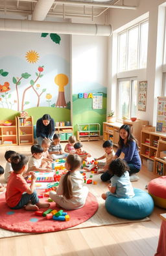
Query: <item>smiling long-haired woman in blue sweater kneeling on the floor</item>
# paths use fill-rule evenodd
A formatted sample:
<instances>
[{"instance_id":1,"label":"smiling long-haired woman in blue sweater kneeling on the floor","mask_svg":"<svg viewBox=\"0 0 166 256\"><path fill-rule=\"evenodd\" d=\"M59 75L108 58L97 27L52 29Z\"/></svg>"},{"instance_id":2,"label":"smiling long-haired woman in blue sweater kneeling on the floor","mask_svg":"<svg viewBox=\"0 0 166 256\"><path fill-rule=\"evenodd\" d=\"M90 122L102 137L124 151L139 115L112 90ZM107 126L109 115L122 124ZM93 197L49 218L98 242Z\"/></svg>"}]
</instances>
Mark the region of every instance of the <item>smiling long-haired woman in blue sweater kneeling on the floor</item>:
<instances>
[{"instance_id":1,"label":"smiling long-haired woman in blue sweater kneeling on the floor","mask_svg":"<svg viewBox=\"0 0 166 256\"><path fill-rule=\"evenodd\" d=\"M139 156L137 141L132 135L130 126L123 124L119 130L119 149L114 158L119 158L121 152L125 154L123 160L128 164L131 181L139 180L136 173L141 169L141 158Z\"/></svg>"}]
</instances>

